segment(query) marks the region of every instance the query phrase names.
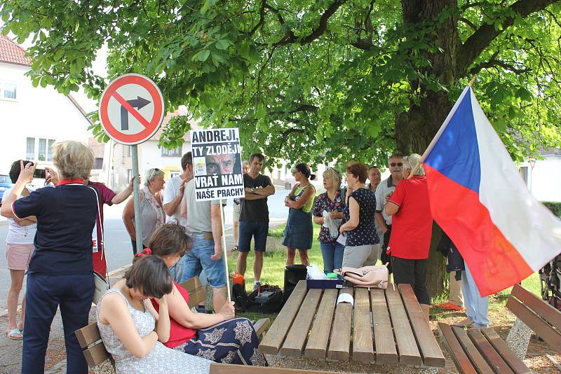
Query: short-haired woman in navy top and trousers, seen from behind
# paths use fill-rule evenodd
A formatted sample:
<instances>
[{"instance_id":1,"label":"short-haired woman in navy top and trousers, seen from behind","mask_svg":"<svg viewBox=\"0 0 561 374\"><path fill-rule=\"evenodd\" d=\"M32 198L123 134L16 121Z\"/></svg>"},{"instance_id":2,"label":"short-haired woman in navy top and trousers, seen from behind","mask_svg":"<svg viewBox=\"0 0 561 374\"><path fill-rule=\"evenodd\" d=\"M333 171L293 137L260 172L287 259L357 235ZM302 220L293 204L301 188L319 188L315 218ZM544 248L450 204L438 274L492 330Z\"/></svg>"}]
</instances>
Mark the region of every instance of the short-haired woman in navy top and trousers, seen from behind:
<instances>
[{"instance_id":1,"label":"short-haired woman in navy top and trousers, seen from behind","mask_svg":"<svg viewBox=\"0 0 561 374\"><path fill-rule=\"evenodd\" d=\"M40 188L20 198L36 165L20 162L20 175L0 208L9 219L36 216L34 253L27 270L27 305L22 373L43 373L50 324L60 307L68 373L88 373L74 331L88 324L94 292L92 231L97 191L83 181L93 153L79 141L53 145L53 164L62 176L55 188Z\"/></svg>"}]
</instances>

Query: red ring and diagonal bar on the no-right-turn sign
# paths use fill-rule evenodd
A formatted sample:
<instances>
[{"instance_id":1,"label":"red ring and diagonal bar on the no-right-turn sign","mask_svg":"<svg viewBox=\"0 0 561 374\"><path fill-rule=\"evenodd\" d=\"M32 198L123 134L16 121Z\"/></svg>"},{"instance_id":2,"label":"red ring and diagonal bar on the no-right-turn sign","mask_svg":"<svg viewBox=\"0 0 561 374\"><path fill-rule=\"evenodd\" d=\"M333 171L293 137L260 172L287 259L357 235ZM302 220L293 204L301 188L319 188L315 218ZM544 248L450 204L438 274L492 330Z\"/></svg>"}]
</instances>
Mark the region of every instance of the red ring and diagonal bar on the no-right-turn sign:
<instances>
[{"instance_id":1,"label":"red ring and diagonal bar on the no-right-turn sign","mask_svg":"<svg viewBox=\"0 0 561 374\"><path fill-rule=\"evenodd\" d=\"M123 103L123 97L117 92L117 90L123 85L140 85L142 88L146 89L150 96L151 102L154 104L154 114L152 118L144 118L142 115L130 106L128 103ZM136 134L125 134L121 132L117 127L111 123L109 120L109 99L114 97L121 106L128 105L127 111L129 116L135 117L142 125L144 125L144 130L137 132ZM126 99L125 99L126 100ZM123 105L124 104L124 105ZM131 110L132 109L132 110ZM162 94L153 81L150 78L142 76L140 74L124 74L116 78L114 81L109 83L100 101L100 121L105 132L109 135L111 139L117 141L121 144L139 144L143 141L147 141L156 134L158 127L160 127L163 120L163 97Z\"/></svg>"}]
</instances>

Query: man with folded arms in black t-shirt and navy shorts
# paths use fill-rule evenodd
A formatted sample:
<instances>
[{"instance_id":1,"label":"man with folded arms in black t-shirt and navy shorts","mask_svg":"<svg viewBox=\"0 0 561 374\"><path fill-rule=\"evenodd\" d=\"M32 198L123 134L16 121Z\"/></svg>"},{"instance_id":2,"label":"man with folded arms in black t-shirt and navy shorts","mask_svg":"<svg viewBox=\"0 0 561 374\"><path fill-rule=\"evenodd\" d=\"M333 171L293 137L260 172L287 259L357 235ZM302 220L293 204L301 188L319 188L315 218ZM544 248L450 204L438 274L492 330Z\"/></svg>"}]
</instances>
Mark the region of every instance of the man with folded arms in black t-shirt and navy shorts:
<instances>
[{"instance_id":1,"label":"man with folded arms in black t-shirt and navy shorts","mask_svg":"<svg viewBox=\"0 0 561 374\"><path fill-rule=\"evenodd\" d=\"M271 183L269 176L259 174L264 161L264 155L253 153L250 157L250 171L243 175L245 198L241 199L239 255L236 270L241 275L245 275L251 238L253 237L255 240L255 262L253 263L255 281L253 282L253 289L257 289L261 285L263 254L265 253L267 233L269 232L267 197L275 193L275 186Z\"/></svg>"}]
</instances>

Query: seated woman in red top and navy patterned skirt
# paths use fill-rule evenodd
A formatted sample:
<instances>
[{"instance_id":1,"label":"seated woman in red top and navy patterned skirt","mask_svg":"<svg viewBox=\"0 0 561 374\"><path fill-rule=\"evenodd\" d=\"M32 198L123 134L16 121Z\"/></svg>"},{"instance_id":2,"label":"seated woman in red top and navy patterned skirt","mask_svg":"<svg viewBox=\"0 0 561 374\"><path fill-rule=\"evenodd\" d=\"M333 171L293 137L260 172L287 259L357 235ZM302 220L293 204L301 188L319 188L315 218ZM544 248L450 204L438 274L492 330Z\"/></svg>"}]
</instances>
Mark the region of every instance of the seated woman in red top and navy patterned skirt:
<instances>
[{"instance_id":1,"label":"seated woman in red top and navy patterned skirt","mask_svg":"<svg viewBox=\"0 0 561 374\"><path fill-rule=\"evenodd\" d=\"M165 265L173 266L191 246L191 238L182 226L166 223L154 231L149 249L142 254L154 254ZM216 314L191 312L187 305L189 293L175 282L167 300L171 329L166 347L219 363L267 366L265 357L257 351L255 328L247 318L234 318L234 303L225 303ZM151 302L158 310L160 300L152 298Z\"/></svg>"}]
</instances>

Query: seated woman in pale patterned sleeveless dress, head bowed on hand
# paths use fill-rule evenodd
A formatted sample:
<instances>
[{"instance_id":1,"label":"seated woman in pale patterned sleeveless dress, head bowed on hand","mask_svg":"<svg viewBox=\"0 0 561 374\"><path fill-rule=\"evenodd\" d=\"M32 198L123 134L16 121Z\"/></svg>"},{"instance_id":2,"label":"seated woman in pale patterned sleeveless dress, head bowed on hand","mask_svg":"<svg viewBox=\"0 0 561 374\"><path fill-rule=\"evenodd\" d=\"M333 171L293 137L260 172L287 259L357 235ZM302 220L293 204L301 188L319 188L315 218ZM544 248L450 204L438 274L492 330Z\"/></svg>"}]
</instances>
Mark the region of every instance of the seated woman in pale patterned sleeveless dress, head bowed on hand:
<instances>
[{"instance_id":1,"label":"seated woman in pale patterned sleeveless dress, head bowed on hand","mask_svg":"<svg viewBox=\"0 0 561 374\"><path fill-rule=\"evenodd\" d=\"M124 279L102 296L97 327L121 373L208 373L211 361L165 347L170 338L167 298L172 291L170 271L156 256L135 258ZM157 298L156 313L147 298ZM155 328L154 328L155 327Z\"/></svg>"}]
</instances>

